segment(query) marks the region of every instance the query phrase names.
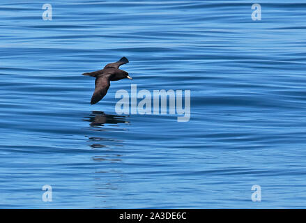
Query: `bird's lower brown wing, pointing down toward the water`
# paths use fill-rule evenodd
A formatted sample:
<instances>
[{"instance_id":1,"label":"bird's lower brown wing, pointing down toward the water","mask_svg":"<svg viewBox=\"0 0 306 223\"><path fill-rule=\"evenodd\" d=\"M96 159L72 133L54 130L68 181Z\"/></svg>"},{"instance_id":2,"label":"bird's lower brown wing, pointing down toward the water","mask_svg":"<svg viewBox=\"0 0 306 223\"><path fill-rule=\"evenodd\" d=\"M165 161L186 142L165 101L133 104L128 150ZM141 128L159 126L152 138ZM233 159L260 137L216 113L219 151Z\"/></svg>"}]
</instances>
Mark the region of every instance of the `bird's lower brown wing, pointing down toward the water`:
<instances>
[{"instance_id":1,"label":"bird's lower brown wing, pointing down toward the water","mask_svg":"<svg viewBox=\"0 0 306 223\"><path fill-rule=\"evenodd\" d=\"M95 78L95 91L91 97L91 105L99 102L109 89L109 75Z\"/></svg>"}]
</instances>

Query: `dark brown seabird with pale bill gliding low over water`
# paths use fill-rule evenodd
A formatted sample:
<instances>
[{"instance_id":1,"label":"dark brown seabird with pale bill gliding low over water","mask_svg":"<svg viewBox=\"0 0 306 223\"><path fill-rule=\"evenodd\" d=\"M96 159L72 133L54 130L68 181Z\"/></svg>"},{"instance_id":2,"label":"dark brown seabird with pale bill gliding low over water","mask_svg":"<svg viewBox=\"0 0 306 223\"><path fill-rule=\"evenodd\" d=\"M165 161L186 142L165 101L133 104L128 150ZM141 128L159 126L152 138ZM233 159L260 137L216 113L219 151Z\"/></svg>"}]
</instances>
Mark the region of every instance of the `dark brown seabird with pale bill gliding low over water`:
<instances>
[{"instance_id":1,"label":"dark brown seabird with pale bill gliding low over water","mask_svg":"<svg viewBox=\"0 0 306 223\"><path fill-rule=\"evenodd\" d=\"M128 72L119 69L125 63L128 63L128 59L123 56L119 61L107 64L102 70L84 72L83 75L95 77L95 91L91 97L91 105L99 102L106 95L110 81L118 81L124 78L132 79Z\"/></svg>"}]
</instances>

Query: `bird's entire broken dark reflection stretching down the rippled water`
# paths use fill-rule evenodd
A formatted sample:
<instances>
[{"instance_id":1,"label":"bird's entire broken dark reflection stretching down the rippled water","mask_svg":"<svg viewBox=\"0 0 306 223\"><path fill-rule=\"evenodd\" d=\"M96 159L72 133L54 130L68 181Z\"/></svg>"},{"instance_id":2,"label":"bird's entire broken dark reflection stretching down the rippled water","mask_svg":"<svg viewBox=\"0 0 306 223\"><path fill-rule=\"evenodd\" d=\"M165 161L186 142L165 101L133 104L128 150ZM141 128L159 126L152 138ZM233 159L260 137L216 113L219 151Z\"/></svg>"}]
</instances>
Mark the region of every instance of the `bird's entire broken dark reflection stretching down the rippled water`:
<instances>
[{"instance_id":1,"label":"bird's entire broken dark reflection stretching down the rippled water","mask_svg":"<svg viewBox=\"0 0 306 223\"><path fill-rule=\"evenodd\" d=\"M91 160L95 162L95 197L102 202L109 197L109 191L120 190L118 182L122 180L121 164L126 151L123 149L124 134L129 122L126 116L105 114L93 111L84 117L89 122L89 131L86 137L89 146L96 153Z\"/></svg>"}]
</instances>

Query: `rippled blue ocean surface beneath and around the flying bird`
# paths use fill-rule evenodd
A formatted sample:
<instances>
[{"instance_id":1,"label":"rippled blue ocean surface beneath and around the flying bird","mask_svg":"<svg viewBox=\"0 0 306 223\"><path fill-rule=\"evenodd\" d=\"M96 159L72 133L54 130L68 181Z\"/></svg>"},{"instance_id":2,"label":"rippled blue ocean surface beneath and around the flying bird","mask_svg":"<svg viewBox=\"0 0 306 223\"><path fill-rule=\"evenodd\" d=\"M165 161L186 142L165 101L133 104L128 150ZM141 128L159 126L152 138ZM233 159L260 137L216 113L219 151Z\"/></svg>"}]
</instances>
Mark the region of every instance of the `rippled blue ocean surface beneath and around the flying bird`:
<instances>
[{"instance_id":1,"label":"rippled blue ocean surface beneath and around the flying bird","mask_svg":"<svg viewBox=\"0 0 306 223\"><path fill-rule=\"evenodd\" d=\"M305 208L305 1L43 3L0 3L0 208ZM116 114L131 84L190 90L190 121Z\"/></svg>"}]
</instances>

